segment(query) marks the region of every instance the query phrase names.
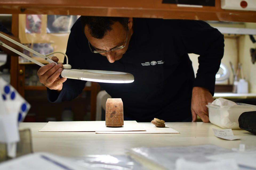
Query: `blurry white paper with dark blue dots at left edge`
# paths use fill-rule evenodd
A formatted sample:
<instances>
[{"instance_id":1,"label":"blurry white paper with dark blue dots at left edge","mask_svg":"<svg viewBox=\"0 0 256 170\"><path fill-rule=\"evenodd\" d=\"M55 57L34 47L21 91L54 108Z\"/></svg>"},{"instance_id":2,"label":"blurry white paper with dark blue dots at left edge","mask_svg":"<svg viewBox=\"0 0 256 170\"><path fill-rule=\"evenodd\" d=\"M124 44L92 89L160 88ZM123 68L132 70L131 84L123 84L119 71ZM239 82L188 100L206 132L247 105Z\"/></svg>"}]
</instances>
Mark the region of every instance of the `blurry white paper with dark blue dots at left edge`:
<instances>
[{"instance_id":1,"label":"blurry white paper with dark blue dots at left edge","mask_svg":"<svg viewBox=\"0 0 256 170\"><path fill-rule=\"evenodd\" d=\"M15 157L19 142L18 122L24 120L30 104L1 77L0 95L0 142L7 144L8 156Z\"/></svg>"}]
</instances>

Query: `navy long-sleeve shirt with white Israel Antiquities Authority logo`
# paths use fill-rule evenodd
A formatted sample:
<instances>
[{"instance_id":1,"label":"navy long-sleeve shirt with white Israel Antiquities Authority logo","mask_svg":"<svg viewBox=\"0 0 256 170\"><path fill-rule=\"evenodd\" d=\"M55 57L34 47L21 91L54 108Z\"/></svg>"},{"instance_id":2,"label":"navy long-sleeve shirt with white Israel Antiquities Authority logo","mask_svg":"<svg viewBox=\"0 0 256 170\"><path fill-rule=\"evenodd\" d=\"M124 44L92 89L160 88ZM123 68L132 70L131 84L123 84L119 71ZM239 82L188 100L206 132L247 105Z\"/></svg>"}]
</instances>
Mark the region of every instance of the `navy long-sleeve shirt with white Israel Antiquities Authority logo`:
<instances>
[{"instance_id":1,"label":"navy long-sleeve shirt with white Israel Antiquities Authority logo","mask_svg":"<svg viewBox=\"0 0 256 170\"><path fill-rule=\"evenodd\" d=\"M133 83L99 83L112 98L122 99L125 117L139 122L154 117L167 122L191 121L192 88L203 87L214 94L215 74L224 52L223 35L203 21L133 18L133 22L126 53L110 63L91 53L79 18L67 43L69 64L73 69L133 74ZM196 78L188 53L200 55ZM85 83L67 79L60 93L47 89L48 99L72 100Z\"/></svg>"}]
</instances>

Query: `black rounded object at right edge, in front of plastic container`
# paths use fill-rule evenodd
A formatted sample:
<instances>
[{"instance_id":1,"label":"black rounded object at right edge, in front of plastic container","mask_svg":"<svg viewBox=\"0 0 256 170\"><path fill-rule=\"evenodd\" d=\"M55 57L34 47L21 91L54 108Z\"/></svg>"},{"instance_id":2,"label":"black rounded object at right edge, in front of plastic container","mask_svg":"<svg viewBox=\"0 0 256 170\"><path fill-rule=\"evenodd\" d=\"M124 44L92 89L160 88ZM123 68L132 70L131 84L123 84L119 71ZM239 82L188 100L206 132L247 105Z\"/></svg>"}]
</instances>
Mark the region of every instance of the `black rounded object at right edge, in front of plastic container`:
<instances>
[{"instance_id":1,"label":"black rounded object at right edge, in front of plastic container","mask_svg":"<svg viewBox=\"0 0 256 170\"><path fill-rule=\"evenodd\" d=\"M243 112L239 118L239 128L256 135L256 111Z\"/></svg>"}]
</instances>

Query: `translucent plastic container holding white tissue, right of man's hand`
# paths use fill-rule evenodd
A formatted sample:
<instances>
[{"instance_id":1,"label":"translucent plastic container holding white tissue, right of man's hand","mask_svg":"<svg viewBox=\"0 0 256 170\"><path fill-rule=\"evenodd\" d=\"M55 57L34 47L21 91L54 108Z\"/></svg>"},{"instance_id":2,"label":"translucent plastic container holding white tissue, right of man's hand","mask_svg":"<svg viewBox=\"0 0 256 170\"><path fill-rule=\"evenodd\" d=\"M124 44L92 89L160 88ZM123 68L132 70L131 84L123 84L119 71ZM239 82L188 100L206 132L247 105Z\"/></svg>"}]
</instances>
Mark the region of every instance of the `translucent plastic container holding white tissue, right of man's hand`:
<instances>
[{"instance_id":1,"label":"translucent plastic container holding white tissue, right of man's hand","mask_svg":"<svg viewBox=\"0 0 256 170\"><path fill-rule=\"evenodd\" d=\"M243 112L256 111L256 106L244 103L236 104L235 106L220 106L208 103L206 106L209 110L210 122L224 129L240 129L239 116Z\"/></svg>"}]
</instances>

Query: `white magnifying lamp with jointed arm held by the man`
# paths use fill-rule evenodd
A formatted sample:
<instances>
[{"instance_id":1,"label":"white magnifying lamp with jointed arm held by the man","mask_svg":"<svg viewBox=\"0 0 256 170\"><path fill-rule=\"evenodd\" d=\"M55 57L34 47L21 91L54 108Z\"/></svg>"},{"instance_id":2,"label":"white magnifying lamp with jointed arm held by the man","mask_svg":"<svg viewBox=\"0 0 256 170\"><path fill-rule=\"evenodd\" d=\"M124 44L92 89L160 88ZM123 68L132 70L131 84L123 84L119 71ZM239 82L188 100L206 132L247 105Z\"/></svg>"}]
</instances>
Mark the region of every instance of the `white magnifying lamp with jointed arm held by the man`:
<instances>
[{"instance_id":1,"label":"white magnifying lamp with jointed arm held by the man","mask_svg":"<svg viewBox=\"0 0 256 170\"><path fill-rule=\"evenodd\" d=\"M117 72L117 71L103 71L103 70L78 70L78 69L71 69L71 65L68 64L68 57L65 53L62 52L53 52L47 55L42 55L25 45L22 45L21 43L18 43L17 41L14 41L13 39L3 35L0 33L0 36L4 39L22 47L23 49L28 50L29 52L43 58L44 60L48 61L49 63L53 63L54 61L51 60L48 56L55 53L61 53L63 54L67 59L67 64L63 64L63 71L61 72L61 76L65 78L70 79L78 79L78 80L87 80L92 82L103 82L103 83L132 83L134 82L134 77L130 73L124 73L124 72ZM39 66L44 66L44 64L34 60L33 58L19 52L18 50L15 50L14 48L6 45L0 40L0 45L3 47L19 54L20 56L34 62L35 64ZM56 62L55 62L56 63ZM56 63L57 64L57 63Z\"/></svg>"}]
</instances>

